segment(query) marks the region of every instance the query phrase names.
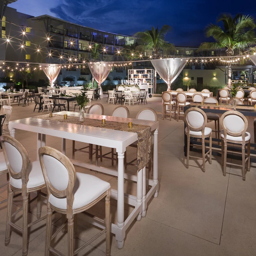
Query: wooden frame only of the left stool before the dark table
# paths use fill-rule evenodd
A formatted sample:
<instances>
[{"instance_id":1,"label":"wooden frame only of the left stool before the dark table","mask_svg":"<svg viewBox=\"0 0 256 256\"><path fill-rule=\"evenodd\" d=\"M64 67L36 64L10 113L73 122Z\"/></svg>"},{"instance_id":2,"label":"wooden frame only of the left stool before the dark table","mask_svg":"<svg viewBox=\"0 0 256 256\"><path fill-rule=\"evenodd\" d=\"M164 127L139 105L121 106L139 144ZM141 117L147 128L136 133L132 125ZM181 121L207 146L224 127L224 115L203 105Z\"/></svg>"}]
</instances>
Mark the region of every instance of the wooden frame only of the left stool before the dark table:
<instances>
[{"instance_id":1,"label":"wooden frame only of the left stool before the dark table","mask_svg":"<svg viewBox=\"0 0 256 256\"><path fill-rule=\"evenodd\" d=\"M203 115L204 123L203 123L203 125L201 127L195 128L195 127L192 127L191 125L189 125L188 120L187 120L187 116L188 116L188 113L191 112L191 111L196 111L196 112L199 112L200 114ZM204 113L203 110L199 109L199 108L189 108L185 112L184 119L185 119L185 123L187 125L187 132L186 132L186 135L187 135L187 165L186 165L186 167L188 168L188 166L189 166L190 137L200 138L200 139L202 139L202 158L201 157L194 157L194 156L190 156L190 157L196 158L196 159L202 159L203 160L203 168L202 168L202 170L203 170L203 172L205 172L205 157L206 157L206 155L209 154L209 163L210 164L212 163L212 133L210 133L207 136L204 135L204 129L205 129L206 124L207 124L206 113ZM202 136L196 136L196 135L192 136L192 135L190 135L191 128L192 128L192 131L201 131L202 132ZM205 138L209 138L209 150L206 153L205 153L205 148L206 148L205 147Z\"/></svg>"}]
</instances>

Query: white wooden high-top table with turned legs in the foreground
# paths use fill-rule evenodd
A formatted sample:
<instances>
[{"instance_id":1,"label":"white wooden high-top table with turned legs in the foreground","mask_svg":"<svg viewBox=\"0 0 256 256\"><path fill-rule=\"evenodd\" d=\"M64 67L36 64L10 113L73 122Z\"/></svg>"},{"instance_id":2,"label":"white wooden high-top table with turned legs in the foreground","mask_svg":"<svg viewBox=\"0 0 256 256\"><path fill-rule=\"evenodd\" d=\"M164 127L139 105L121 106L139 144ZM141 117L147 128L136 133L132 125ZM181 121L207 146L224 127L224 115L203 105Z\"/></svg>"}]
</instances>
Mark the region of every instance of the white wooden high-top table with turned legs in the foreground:
<instances>
[{"instance_id":1,"label":"white wooden high-top table with turned legs in the foreground","mask_svg":"<svg viewBox=\"0 0 256 256\"><path fill-rule=\"evenodd\" d=\"M79 113L62 111L55 114L68 114L68 116L79 116ZM116 148L118 155L118 171L96 166L91 163L84 163L79 160L70 159L74 165L85 167L118 176L117 191L112 189L111 197L117 200L117 225L112 223L111 231L116 235L117 247L119 249L124 246L125 233L132 221L136 218L138 221L146 216L147 203L151 197L158 196L158 121L138 120L131 118L120 118L111 116L99 116L93 114L85 114L85 118L94 118L108 121L118 121L123 123L132 122L134 124L148 125L154 133L154 155L153 155L153 180L146 179L146 167L137 172L137 176L124 173L124 153L126 147L138 140L137 133L116 131L105 128L90 127L85 125L77 125L71 123L60 123L57 121L42 120L39 118L24 118L9 122L10 135L15 137L15 129L21 129L37 133L37 150L46 145L46 135L52 135L62 138L62 153L66 153L66 139L76 140L79 142L96 144L103 147ZM37 158L38 155L37 155ZM124 178L137 182L137 195L129 195L124 193ZM146 186L152 187L146 194ZM124 203L134 206L134 210L124 220ZM105 222L102 219L92 217L91 215L83 215L86 221L101 228L105 228Z\"/></svg>"}]
</instances>

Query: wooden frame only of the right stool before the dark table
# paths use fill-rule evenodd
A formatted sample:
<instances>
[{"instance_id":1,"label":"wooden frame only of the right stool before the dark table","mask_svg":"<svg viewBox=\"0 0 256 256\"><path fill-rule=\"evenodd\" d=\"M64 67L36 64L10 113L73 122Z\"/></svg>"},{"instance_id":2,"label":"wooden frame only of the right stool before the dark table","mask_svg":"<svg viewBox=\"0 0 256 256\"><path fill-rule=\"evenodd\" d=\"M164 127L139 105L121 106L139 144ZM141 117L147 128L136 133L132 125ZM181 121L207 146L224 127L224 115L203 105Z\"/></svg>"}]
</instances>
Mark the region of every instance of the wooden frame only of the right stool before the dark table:
<instances>
[{"instance_id":1,"label":"wooden frame only of the right stool before the dark table","mask_svg":"<svg viewBox=\"0 0 256 256\"><path fill-rule=\"evenodd\" d=\"M231 132L229 131L225 124L224 124L224 118L229 115L236 115L242 118L244 120L244 129L242 129L240 132ZM221 126L223 128L224 138L221 137L221 165L223 166L223 176L226 176L226 165L233 165L233 166L242 166L242 180L245 181L245 163L247 162L247 171L250 171L250 150L251 150L251 141L245 140L245 132L248 128L248 120L247 118L240 112L230 110L222 114L221 116ZM235 140L228 140L227 134L231 136L241 136L242 142L237 142ZM233 143L233 144L241 144L242 145L242 165L238 165L236 163L228 163L227 162L227 143ZM245 146L247 144L247 157L245 158Z\"/></svg>"}]
</instances>

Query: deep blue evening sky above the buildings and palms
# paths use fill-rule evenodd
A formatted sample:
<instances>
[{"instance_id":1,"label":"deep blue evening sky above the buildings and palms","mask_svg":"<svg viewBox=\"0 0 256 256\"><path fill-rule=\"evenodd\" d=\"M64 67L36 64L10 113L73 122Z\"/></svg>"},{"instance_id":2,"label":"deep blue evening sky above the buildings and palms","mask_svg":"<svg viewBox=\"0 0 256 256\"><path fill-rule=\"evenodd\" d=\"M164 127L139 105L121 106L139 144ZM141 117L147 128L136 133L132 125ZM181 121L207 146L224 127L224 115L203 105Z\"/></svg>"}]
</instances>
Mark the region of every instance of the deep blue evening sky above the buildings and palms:
<instances>
[{"instance_id":1,"label":"deep blue evening sky above the buildings and palms","mask_svg":"<svg viewBox=\"0 0 256 256\"><path fill-rule=\"evenodd\" d=\"M18 0L8 6L33 16L48 14L110 32L133 35L152 26L170 25L166 39L176 46L199 46L203 30L222 12L250 14L253 1L238 0Z\"/></svg>"}]
</instances>

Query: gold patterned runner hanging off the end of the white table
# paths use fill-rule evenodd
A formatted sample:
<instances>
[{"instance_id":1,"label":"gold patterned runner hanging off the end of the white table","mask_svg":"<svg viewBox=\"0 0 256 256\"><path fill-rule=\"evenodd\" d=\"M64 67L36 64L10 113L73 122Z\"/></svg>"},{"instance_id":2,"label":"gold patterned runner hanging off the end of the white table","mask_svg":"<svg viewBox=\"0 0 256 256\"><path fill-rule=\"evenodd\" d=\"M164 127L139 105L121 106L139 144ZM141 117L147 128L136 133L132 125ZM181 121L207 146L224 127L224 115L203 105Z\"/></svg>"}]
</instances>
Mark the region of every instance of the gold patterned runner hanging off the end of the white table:
<instances>
[{"instance_id":1,"label":"gold patterned runner hanging off the end of the white table","mask_svg":"<svg viewBox=\"0 0 256 256\"><path fill-rule=\"evenodd\" d=\"M84 118L84 121L79 121L79 117L68 116L64 119L64 115L49 114L42 116L35 116L34 118L57 121L61 123L80 124L98 128L112 129L124 132L135 132L138 134L138 150L137 150L137 167L138 170L146 166L151 154L151 127L148 125L133 124L133 128L128 127L128 123L121 123L115 121L107 121L105 124L101 123L101 119Z\"/></svg>"}]
</instances>

